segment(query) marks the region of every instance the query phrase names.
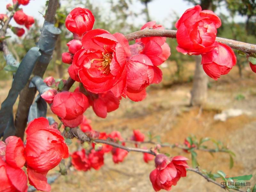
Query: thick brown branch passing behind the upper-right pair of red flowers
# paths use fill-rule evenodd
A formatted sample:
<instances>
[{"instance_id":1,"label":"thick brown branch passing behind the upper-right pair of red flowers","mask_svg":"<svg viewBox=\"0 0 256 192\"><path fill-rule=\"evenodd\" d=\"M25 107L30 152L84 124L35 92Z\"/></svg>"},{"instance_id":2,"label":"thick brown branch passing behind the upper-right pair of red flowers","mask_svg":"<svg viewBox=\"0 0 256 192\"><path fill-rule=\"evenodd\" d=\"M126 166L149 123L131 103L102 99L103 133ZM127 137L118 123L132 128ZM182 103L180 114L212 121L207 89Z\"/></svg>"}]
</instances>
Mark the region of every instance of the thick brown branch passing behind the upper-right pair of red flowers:
<instances>
[{"instance_id":1,"label":"thick brown branch passing behind the upper-right pair of red flowers","mask_svg":"<svg viewBox=\"0 0 256 192\"><path fill-rule=\"evenodd\" d=\"M170 38L176 38L176 30L169 30L169 29L142 29L140 31L135 31L133 33L130 33L126 35L126 39L128 41L132 41L135 39L139 39L142 37L149 37L149 36L160 36L160 37L170 37ZM233 49L240 50L242 52L246 53L256 53L256 45L254 44L249 44L249 43L244 43L240 41L235 41L231 39L225 39L221 37L216 37L216 41L226 44L230 46Z\"/></svg>"}]
</instances>

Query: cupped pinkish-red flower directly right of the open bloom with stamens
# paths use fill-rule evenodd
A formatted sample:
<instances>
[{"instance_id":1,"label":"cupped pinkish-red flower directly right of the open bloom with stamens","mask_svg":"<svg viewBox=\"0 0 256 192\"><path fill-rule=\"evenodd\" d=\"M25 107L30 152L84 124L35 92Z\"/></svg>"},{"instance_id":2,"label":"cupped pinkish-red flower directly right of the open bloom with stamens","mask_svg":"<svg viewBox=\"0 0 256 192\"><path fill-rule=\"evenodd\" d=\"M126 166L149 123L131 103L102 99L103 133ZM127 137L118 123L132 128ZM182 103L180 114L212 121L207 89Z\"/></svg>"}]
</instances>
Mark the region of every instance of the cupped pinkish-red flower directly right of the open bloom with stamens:
<instances>
[{"instance_id":1,"label":"cupped pinkish-red flower directly right of the open bloom with stamens","mask_svg":"<svg viewBox=\"0 0 256 192\"><path fill-rule=\"evenodd\" d=\"M162 71L154 66L144 54L137 54L127 61L127 96L133 101L145 99L145 88L152 83L160 83Z\"/></svg>"}]
</instances>

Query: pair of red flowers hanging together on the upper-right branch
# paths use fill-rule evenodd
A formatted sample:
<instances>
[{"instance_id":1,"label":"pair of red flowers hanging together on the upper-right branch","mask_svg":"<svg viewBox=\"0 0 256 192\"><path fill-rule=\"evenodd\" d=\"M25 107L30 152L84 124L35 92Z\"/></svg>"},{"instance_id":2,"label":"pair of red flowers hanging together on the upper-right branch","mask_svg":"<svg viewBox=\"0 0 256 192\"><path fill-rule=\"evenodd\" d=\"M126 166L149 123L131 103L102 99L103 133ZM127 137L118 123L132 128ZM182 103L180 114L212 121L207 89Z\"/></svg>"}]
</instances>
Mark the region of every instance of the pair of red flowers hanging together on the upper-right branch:
<instances>
[{"instance_id":1,"label":"pair of red flowers hanging together on the upper-right branch","mask_svg":"<svg viewBox=\"0 0 256 192\"><path fill-rule=\"evenodd\" d=\"M233 50L215 41L220 18L200 5L188 9L176 22L177 51L189 55L202 55L205 73L217 80L226 75L236 65Z\"/></svg>"}]
</instances>

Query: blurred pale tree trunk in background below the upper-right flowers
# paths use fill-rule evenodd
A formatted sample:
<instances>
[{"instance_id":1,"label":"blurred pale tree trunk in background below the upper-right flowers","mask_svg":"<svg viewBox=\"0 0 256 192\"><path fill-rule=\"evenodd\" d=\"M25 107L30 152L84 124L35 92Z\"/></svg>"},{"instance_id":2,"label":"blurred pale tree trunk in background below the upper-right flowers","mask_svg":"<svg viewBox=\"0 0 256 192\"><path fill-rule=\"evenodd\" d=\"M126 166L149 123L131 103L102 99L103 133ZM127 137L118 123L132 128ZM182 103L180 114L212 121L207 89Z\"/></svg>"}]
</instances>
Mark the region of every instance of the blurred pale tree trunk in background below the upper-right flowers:
<instances>
[{"instance_id":1,"label":"blurred pale tree trunk in background below the upper-right flowers","mask_svg":"<svg viewBox=\"0 0 256 192\"><path fill-rule=\"evenodd\" d=\"M193 80L193 88L191 91L190 104L192 106L202 106L207 99L207 83L208 78L201 66L201 55L196 55L196 69Z\"/></svg>"}]
</instances>

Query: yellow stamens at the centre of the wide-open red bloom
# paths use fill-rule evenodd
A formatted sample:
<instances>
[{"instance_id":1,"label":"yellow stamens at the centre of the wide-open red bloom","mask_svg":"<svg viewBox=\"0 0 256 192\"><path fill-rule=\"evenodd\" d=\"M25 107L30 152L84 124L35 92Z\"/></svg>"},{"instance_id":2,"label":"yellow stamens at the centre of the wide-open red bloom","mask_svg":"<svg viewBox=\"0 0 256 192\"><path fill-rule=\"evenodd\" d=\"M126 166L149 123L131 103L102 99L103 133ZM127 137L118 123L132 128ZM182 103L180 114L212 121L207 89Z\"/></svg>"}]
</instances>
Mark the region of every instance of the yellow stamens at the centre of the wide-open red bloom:
<instances>
[{"instance_id":1,"label":"yellow stamens at the centre of the wide-open red bloom","mask_svg":"<svg viewBox=\"0 0 256 192\"><path fill-rule=\"evenodd\" d=\"M107 53L102 52L103 58L102 59L92 59L91 63L93 63L94 60L96 61L101 61L99 63L97 63L97 65L99 66L99 70L103 70L103 74L108 75L108 73L110 72L110 63L112 60L112 54L108 52L108 50L106 49L107 45L104 45L103 48L105 49L105 51Z\"/></svg>"}]
</instances>

